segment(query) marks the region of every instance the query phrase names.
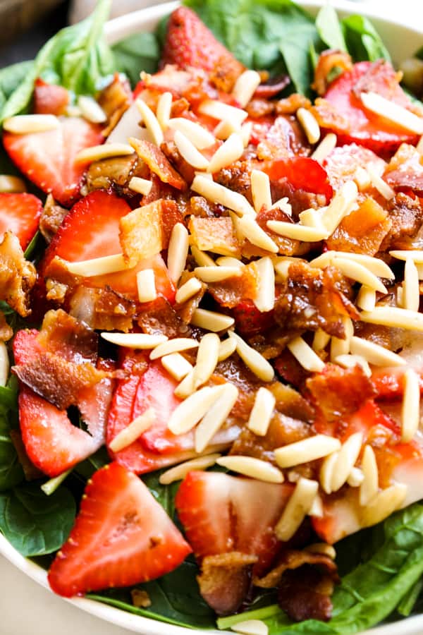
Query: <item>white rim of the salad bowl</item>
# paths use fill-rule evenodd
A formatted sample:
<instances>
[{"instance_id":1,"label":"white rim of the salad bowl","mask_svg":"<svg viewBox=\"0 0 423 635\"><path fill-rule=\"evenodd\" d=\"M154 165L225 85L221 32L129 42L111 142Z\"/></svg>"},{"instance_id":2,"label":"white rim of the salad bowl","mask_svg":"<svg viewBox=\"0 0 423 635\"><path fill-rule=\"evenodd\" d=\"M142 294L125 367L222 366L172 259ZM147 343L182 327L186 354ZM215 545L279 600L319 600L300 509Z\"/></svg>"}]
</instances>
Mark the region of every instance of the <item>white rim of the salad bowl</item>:
<instances>
[{"instance_id":1,"label":"white rim of the salad bowl","mask_svg":"<svg viewBox=\"0 0 423 635\"><path fill-rule=\"evenodd\" d=\"M326 4L326 1L328 0L297 1L298 4L306 10L313 11ZM403 28L417 37L423 35L423 28L413 27L403 18L403 16L395 16L395 18L393 18L393 16L385 17L383 6L381 6L381 8L376 8L375 6L356 4L350 0L329 0L329 3L336 9L336 11L341 13L360 13L362 16L366 16L371 20L376 20L381 24L385 24L387 27L393 26L394 28ZM109 44L114 44L128 35L132 35L133 33L140 32L142 30L149 30L152 23L157 23L158 20L168 15L168 13L171 13L171 11L179 6L179 4L180 2L177 0L166 2L165 4L153 5L137 11L132 11L118 18L114 18L113 20L109 20L104 29L106 39ZM395 20L395 22L393 20ZM20 553L1 533L0 555L3 555L6 560L20 569L20 571L22 571L30 579L43 586L47 591L49 591L49 593L53 593L47 581L47 571L42 569L42 567L35 562L32 562L32 560L20 555ZM62 599L71 605L90 613L90 615L94 615L106 622L142 635L189 635L195 632L207 635L224 635L231 632L180 627L176 624L160 622L159 620L150 617L135 615L125 610L106 605L97 600L90 600L87 598ZM400 627L402 635L421 635L423 632L423 614L408 617L407 619L401 619L391 624L382 624L374 629L363 631L362 635L364 635L364 633L365 635L398 635L398 627Z\"/></svg>"}]
</instances>

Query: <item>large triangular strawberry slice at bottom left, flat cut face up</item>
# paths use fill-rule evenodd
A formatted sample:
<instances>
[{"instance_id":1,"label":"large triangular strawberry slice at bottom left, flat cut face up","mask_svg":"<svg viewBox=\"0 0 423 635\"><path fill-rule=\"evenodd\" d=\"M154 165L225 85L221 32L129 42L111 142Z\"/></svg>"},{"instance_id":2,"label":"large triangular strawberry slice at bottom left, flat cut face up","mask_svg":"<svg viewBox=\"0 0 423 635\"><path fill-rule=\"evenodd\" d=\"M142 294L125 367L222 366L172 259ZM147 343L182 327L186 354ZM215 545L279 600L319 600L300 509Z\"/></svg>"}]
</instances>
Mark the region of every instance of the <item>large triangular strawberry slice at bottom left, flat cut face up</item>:
<instances>
[{"instance_id":1,"label":"large triangular strawberry slice at bottom left, flat cut face up","mask_svg":"<svg viewBox=\"0 0 423 635\"><path fill-rule=\"evenodd\" d=\"M88 481L68 541L49 570L53 591L72 595L154 580L190 546L142 480L117 463Z\"/></svg>"}]
</instances>

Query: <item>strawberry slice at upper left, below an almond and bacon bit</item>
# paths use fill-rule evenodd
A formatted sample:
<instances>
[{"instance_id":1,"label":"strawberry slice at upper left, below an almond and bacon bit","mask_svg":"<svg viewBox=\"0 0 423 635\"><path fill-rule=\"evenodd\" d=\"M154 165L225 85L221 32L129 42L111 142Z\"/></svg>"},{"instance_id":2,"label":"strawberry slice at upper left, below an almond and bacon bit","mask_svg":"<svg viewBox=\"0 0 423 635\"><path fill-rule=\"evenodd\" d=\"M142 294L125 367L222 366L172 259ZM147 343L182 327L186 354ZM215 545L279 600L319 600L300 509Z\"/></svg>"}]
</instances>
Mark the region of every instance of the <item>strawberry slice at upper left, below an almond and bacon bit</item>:
<instances>
[{"instance_id":1,"label":"strawberry slice at upper left, below an almond and bacon bit","mask_svg":"<svg viewBox=\"0 0 423 635\"><path fill-rule=\"evenodd\" d=\"M80 150L103 143L102 128L78 117L61 117L60 125L42 133L4 133L6 152L20 171L44 193L70 207L79 198L86 166L75 164Z\"/></svg>"}]
</instances>

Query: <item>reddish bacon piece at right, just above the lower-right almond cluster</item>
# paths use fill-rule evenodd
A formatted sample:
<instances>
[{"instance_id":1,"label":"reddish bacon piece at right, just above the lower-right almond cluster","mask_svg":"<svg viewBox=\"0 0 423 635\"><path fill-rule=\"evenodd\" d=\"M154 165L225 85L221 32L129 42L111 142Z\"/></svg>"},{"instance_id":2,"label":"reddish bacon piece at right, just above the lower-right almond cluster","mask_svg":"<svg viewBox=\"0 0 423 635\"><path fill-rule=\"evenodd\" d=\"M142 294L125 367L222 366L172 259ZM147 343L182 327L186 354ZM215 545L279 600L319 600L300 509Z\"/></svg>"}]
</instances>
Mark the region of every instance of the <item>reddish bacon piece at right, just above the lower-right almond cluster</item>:
<instances>
[{"instance_id":1,"label":"reddish bacon piece at right, just above the lower-right almond cluster","mask_svg":"<svg viewBox=\"0 0 423 635\"><path fill-rule=\"evenodd\" d=\"M322 373L309 377L305 385L327 421L354 413L376 394L372 381L358 365L341 368L328 364Z\"/></svg>"}]
</instances>

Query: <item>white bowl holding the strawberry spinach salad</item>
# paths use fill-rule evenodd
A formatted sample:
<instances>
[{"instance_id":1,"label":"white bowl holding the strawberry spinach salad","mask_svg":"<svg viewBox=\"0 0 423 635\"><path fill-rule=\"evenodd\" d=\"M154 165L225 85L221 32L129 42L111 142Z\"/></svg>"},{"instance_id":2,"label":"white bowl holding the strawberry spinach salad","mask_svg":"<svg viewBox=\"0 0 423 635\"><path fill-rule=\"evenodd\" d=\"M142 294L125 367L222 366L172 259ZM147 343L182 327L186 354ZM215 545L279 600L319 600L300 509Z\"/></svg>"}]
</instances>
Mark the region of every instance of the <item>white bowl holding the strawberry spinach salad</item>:
<instances>
[{"instance_id":1,"label":"white bowl holding the strawberry spinach salad","mask_svg":"<svg viewBox=\"0 0 423 635\"><path fill-rule=\"evenodd\" d=\"M163 18L163 16L168 15L168 13L171 13L178 4L178 2L169 2L168 4L151 6L141 11L128 13L126 16L111 20L106 25L107 39L113 44L114 42L118 42L118 40L122 40L127 35L141 31L152 31L157 26L159 20ZM307 9L307 11L310 11L310 13L315 14L323 4L326 4L326 0L308 0L304 2L299 0L299 4ZM391 52L393 60L396 62L412 56L422 45L421 29L410 28L401 17L396 17L395 22L382 17L382 11L386 10L386 4L384 2L379 2L380 8L369 8L362 4L354 4L348 0L332 0L331 4L336 8L341 17L350 13L362 13L362 15L370 18ZM400 10L400 7L398 7L398 10ZM0 554L4 555L7 560L18 567L18 569L23 571L27 576L49 589L46 571L20 555L1 534ZM195 635L196 632L202 632L207 635L223 635L223 633L226 632L217 630L200 631L200 629L192 630L173 626L172 624L165 624L140 615L133 615L123 610L84 598L75 598L66 601L92 615L104 619L106 622L111 622L111 624L116 624L116 626L123 627L134 633L141 633L142 635ZM398 633L401 635L421 635L423 633L423 615L417 615L403 619L400 622L377 627L367 631L366 635L398 635Z\"/></svg>"}]
</instances>

